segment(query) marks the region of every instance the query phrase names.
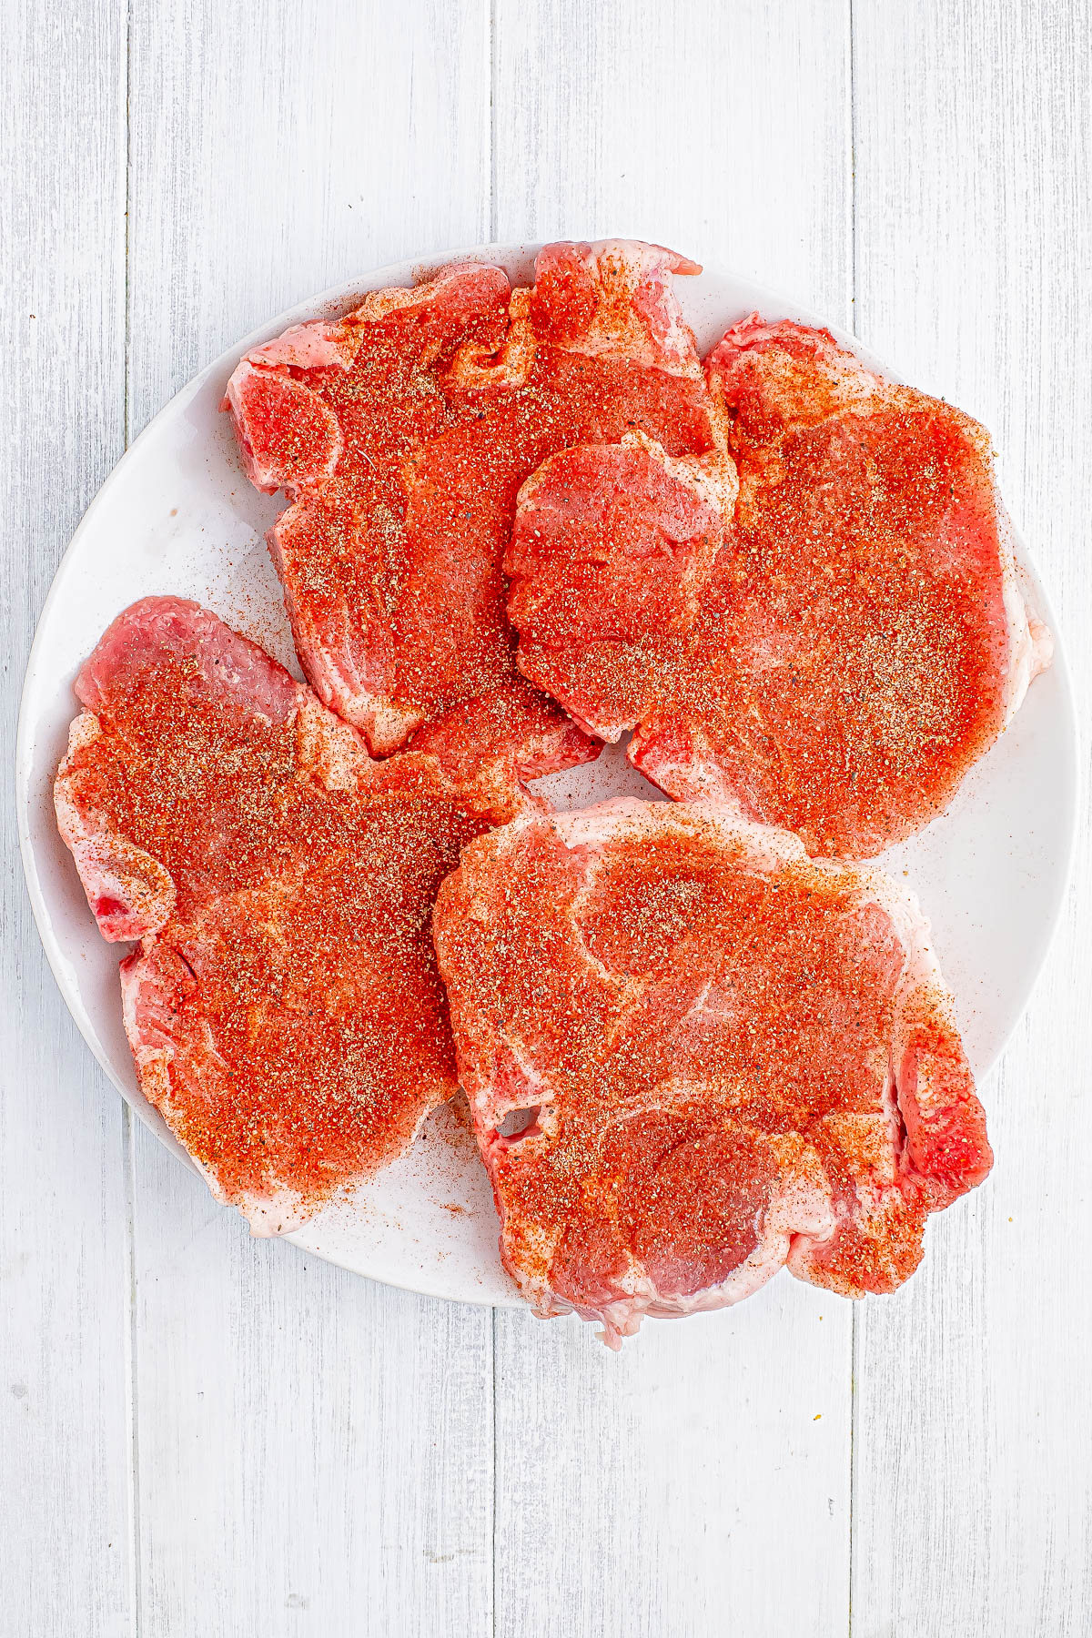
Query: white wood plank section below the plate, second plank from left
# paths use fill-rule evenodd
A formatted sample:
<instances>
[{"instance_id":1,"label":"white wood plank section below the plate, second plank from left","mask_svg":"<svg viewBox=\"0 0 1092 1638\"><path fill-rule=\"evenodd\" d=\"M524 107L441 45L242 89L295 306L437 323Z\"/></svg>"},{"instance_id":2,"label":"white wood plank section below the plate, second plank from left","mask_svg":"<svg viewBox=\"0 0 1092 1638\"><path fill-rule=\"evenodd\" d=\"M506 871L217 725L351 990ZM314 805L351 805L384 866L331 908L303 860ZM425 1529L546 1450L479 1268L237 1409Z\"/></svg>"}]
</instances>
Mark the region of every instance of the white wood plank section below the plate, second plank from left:
<instances>
[{"instance_id":1,"label":"white wood plank section below the plate, second plank from left","mask_svg":"<svg viewBox=\"0 0 1092 1638\"><path fill-rule=\"evenodd\" d=\"M488 1633L490 1312L254 1242L180 1176L142 1133L142 1638Z\"/></svg>"}]
</instances>

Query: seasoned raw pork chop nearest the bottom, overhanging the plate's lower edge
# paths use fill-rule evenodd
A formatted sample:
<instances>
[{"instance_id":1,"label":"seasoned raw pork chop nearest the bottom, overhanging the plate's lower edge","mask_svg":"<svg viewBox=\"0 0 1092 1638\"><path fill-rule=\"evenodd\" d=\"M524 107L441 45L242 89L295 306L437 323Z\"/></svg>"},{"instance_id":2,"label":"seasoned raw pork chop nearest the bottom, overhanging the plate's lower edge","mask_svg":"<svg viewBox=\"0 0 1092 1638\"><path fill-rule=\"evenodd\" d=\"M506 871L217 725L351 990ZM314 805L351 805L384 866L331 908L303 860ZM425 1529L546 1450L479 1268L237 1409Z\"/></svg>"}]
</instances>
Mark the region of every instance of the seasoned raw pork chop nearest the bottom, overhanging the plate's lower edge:
<instances>
[{"instance_id":1,"label":"seasoned raw pork chop nearest the bottom, overhanging the plate's lower edge","mask_svg":"<svg viewBox=\"0 0 1092 1638\"><path fill-rule=\"evenodd\" d=\"M914 898L701 803L526 814L434 912L509 1271L607 1340L918 1265L990 1168Z\"/></svg>"}]
</instances>

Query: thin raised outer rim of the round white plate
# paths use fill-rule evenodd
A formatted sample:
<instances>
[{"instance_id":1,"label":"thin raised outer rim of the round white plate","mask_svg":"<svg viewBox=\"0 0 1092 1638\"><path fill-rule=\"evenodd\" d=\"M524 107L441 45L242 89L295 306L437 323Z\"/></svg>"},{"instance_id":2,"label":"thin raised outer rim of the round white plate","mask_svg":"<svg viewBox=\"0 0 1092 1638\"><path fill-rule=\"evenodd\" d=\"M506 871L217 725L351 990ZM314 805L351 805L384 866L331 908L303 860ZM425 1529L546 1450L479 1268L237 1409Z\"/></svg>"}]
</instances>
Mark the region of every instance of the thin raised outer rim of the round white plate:
<instances>
[{"instance_id":1,"label":"thin raised outer rim of the round white plate","mask_svg":"<svg viewBox=\"0 0 1092 1638\"><path fill-rule=\"evenodd\" d=\"M612 238L625 238L625 236L617 234ZM363 296L370 290L386 288L388 285L411 285L422 282L422 278L427 278L431 274L434 274L435 270L453 260L480 260L488 264L490 259L496 259L498 262L501 262L501 265L511 269L512 264L517 262L526 264L537 254L537 251L542 249L544 244L548 242L558 242L558 241L491 241L486 244L458 246L447 251L434 251L416 257L403 257L401 260L396 262L386 262L381 267L365 270L362 274L357 274L354 278L341 280L314 295L305 296L301 301L293 303L282 313L270 316L264 323L257 324L252 331L249 331L239 341L232 342L229 347L224 347L210 364L206 364L201 370L192 375L175 393L170 395L170 398L156 411L151 421L141 429L141 432L133 439L133 442L126 447L121 457L110 468L102 485L88 501L85 511L82 513L69 539L69 544L65 545L57 562L52 580L49 583L49 590L38 613L38 619L34 624L34 636L26 654L26 668L23 673L23 683L20 690L18 727L15 739L15 763L13 763L20 858L23 865L23 878L26 883L31 911L34 916L34 925L43 950L46 953L46 960L52 971L54 981L57 984L57 989L61 991L61 998L64 999L64 1004L72 1020L75 1022L80 1035L83 1037L85 1045L90 1048L92 1057L103 1070L108 1081L121 1094L126 1107L142 1122L144 1127L147 1127L149 1132L156 1135L156 1138L160 1143L164 1143L164 1147L177 1160L180 1160L187 1166L188 1171L198 1176L201 1176L200 1168L195 1165L195 1161L187 1153L183 1145L174 1135L174 1132L170 1130L164 1117L159 1114L159 1111L154 1109L147 1102L147 1099L139 1094L139 1089L134 1093L128 1086L124 1086L124 1083L116 1076L106 1053L100 1048L100 1043L92 1030L92 1020L87 1016L82 999L74 991L69 981L69 975L64 968L61 942L54 932L52 917L49 914L46 898L43 893L41 878L38 871L38 860L34 857L34 834L33 834L34 827L31 826L31 775L33 775L31 763L33 763L36 724L31 724L29 721L29 695L38 678L38 667L41 660L39 650L44 647L46 627L49 624L56 604L59 604L64 598L65 581L69 573L72 572L82 539L93 529L95 516L100 506L105 505L108 491L111 491L116 486L116 483L123 480L124 473L133 465L138 464L144 447L154 441L157 432L162 431L162 426L167 423L172 413L177 411L180 401L187 401L196 396L201 391L201 388L205 388L218 375L223 375L226 383L228 375L246 352L249 352L252 347L260 346L264 341L268 341L270 337L280 334L290 324L305 323L308 318L329 316L337 308L347 311L350 310L347 308L347 303L350 303L354 298ZM584 241L576 241L576 242L584 242ZM878 373L882 373L887 380L892 382L904 380L904 377L896 369L886 364L876 352L873 352L871 347L861 342L860 337L856 337L850 331L842 329L837 324L832 324L822 314L815 313L812 308L805 306L796 298L783 295L778 288L760 283L758 280L745 277L742 274L737 274L730 267L725 267L717 260L702 262L702 272L711 274L715 278L732 282L740 290L747 290L748 298L750 295L753 295L755 298L755 308L761 308L761 305L766 303L768 306L774 306L778 310L786 311L787 314L792 316L796 323L804 323L828 329L830 334L835 337L835 341L838 341L838 344L846 347L850 352L853 352L866 367L874 369ZM1069 898L1069 889L1072 885L1072 871L1074 871L1077 835L1079 835L1079 817L1081 817L1081 791L1082 791L1081 726L1077 717L1072 672L1067 657L1067 634L1064 632L1064 622L1059 621L1053 600L1043 583L1036 559L1028 550L1028 545L1023 539L1023 532L1015 524L1013 524L1013 532L1018 547L1018 563L1031 583L1035 613L1045 619L1054 639L1051 670L1056 675L1059 688L1059 708L1061 708L1061 716L1064 717L1064 727L1066 727L1064 740L1067 749L1067 760L1064 767L1066 848L1064 848L1064 860L1061 862L1061 868L1056 875L1053 903L1049 903L1049 906L1046 907L1048 909L1048 916L1045 919L1046 930L1043 935L1043 943L1038 953L1038 960L1018 991L1018 1001L1013 1006L1007 1030L997 1042L989 1061L981 1070L976 1071L976 1079L979 1083L984 1081L989 1075L992 1075L1000 1057L1009 1048L1012 1037L1028 1009L1035 988L1043 975L1043 968L1046 966L1051 948L1058 937L1058 930L1064 914L1064 906ZM882 858L884 858L882 853L878 855L876 858L879 868L882 868ZM925 914L928 916L928 906L925 906L923 909ZM323 1251L318 1250L313 1243L305 1243L300 1238L305 1233L306 1233L306 1225L298 1230L293 1230L291 1233L278 1235L277 1238L287 1240L290 1245L296 1248L296 1251L301 1251L309 1256L319 1256L323 1261L332 1265L334 1268L342 1268L347 1273L352 1273L359 1278L375 1279L380 1281L381 1284L390 1284L395 1289L413 1291L426 1297L442 1297L444 1301L450 1302L468 1302L475 1307L526 1307L526 1302L514 1284L511 1296L504 1297L496 1294L481 1297L465 1296L463 1292L453 1294L450 1291L442 1289L440 1281L429 1278L424 1268L421 1269L419 1276L413 1278L413 1283L408 1273L403 1273L399 1278L391 1278L390 1274L365 1271L359 1268L355 1263L347 1261L344 1256L339 1256L334 1251Z\"/></svg>"}]
</instances>

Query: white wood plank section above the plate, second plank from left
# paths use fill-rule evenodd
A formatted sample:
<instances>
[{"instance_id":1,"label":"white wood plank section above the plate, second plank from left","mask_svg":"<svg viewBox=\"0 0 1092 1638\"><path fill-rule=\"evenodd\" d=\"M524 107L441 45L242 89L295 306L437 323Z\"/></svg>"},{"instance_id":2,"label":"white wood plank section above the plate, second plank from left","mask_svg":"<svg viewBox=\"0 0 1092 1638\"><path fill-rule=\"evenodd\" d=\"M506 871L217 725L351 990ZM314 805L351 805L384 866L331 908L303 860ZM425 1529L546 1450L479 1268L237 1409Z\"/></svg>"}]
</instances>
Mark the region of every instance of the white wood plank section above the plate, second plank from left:
<instances>
[{"instance_id":1,"label":"white wood plank section above the plate, second plank from left","mask_svg":"<svg viewBox=\"0 0 1092 1638\"><path fill-rule=\"evenodd\" d=\"M357 270L488 238L488 0L134 10L131 434Z\"/></svg>"}]
</instances>

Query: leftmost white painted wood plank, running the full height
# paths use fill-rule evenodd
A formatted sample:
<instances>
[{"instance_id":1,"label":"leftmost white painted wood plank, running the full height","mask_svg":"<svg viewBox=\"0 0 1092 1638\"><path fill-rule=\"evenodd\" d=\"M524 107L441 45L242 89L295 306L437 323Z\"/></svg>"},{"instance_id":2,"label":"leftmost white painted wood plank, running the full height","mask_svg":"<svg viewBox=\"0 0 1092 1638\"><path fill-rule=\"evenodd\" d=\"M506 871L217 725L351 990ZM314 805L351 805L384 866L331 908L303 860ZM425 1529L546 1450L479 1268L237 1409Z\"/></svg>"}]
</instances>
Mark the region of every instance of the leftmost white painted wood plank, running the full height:
<instances>
[{"instance_id":1,"label":"leftmost white painted wood plank, running the full height","mask_svg":"<svg viewBox=\"0 0 1092 1638\"><path fill-rule=\"evenodd\" d=\"M38 611L123 447L124 5L43 15L16 0L3 44L8 770ZM0 824L0 1627L120 1638L133 1630L123 1107L46 966L7 791Z\"/></svg>"}]
</instances>

